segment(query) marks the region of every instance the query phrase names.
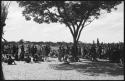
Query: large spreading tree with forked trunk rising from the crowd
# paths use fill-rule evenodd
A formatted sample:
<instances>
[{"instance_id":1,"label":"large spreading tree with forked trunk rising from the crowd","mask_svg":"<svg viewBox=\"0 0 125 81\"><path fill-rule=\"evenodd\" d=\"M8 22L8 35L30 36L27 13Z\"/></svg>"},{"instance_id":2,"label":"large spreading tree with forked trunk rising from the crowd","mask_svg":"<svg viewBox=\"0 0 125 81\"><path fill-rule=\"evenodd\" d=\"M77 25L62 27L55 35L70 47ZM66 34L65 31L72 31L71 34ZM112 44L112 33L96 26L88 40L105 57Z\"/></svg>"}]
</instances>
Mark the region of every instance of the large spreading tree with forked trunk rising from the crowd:
<instances>
[{"instance_id":1,"label":"large spreading tree with forked trunk rising from the crowd","mask_svg":"<svg viewBox=\"0 0 125 81\"><path fill-rule=\"evenodd\" d=\"M98 19L101 10L108 13L117 9L121 1L18 1L24 7L26 20L41 23L65 24L73 36L73 57L77 56L77 43L83 28Z\"/></svg>"}]
</instances>

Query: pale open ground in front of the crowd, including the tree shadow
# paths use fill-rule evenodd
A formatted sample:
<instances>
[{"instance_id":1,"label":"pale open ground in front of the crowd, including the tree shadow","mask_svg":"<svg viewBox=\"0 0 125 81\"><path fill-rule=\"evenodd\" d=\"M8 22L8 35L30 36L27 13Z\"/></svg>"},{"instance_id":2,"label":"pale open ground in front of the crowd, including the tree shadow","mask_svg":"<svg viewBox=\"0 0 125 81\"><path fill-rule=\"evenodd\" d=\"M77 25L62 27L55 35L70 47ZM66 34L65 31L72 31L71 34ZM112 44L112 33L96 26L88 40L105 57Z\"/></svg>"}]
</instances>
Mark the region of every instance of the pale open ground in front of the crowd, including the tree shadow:
<instances>
[{"instance_id":1,"label":"pale open ground in front of the crowd, including the tree shadow","mask_svg":"<svg viewBox=\"0 0 125 81\"><path fill-rule=\"evenodd\" d=\"M116 63L81 59L68 65L49 58L48 62L16 64L2 64L6 80L124 80L124 68Z\"/></svg>"}]
</instances>

